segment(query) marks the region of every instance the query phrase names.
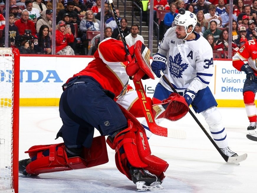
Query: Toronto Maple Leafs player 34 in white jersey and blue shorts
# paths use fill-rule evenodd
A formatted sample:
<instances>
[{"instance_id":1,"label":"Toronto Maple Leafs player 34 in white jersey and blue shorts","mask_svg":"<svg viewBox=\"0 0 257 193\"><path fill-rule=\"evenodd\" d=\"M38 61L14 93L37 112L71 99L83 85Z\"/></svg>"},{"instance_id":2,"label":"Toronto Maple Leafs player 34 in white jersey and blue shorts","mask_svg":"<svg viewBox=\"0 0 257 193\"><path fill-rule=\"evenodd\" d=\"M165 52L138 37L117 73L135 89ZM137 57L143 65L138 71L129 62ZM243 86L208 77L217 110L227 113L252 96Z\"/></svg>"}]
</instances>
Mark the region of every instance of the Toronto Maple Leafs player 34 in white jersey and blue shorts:
<instances>
[{"instance_id":1,"label":"Toronto Maple Leafs player 34 in white jersey and blue shorts","mask_svg":"<svg viewBox=\"0 0 257 193\"><path fill-rule=\"evenodd\" d=\"M213 74L213 54L208 41L193 30L197 23L195 14L179 9L172 27L164 34L159 51L153 56L151 67L157 77L160 71L172 83L188 106L201 113L212 137L227 156L238 156L228 147L227 134L222 123L218 105L208 84ZM153 103L161 103L172 89L161 77L154 91Z\"/></svg>"}]
</instances>

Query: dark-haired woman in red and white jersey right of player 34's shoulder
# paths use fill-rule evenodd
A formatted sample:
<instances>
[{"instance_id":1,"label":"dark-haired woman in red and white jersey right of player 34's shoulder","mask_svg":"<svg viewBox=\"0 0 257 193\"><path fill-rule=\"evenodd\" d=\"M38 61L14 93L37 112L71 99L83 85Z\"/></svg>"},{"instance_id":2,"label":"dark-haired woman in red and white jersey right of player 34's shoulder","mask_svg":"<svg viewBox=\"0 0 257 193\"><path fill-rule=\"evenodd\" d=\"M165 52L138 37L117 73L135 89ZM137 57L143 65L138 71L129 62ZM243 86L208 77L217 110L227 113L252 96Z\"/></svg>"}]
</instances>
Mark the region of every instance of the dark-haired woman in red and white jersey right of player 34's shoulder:
<instances>
[{"instance_id":1,"label":"dark-haired woman in red and white jersey right of player 34's shoulder","mask_svg":"<svg viewBox=\"0 0 257 193\"><path fill-rule=\"evenodd\" d=\"M232 41L232 50L237 45ZM219 39L215 42L214 50L228 51L228 29L223 29L220 33Z\"/></svg>"}]
</instances>

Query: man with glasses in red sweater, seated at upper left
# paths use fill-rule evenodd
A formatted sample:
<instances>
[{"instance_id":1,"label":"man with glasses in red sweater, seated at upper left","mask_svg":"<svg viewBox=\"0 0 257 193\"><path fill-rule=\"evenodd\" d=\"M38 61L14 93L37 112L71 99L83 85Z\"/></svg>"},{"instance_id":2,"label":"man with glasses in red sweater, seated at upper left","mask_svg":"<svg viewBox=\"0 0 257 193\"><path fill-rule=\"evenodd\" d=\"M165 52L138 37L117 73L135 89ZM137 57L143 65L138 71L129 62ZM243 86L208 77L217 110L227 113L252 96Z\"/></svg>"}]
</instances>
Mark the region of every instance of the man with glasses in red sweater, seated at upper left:
<instances>
[{"instance_id":1,"label":"man with glasses in red sweater, seated at upper left","mask_svg":"<svg viewBox=\"0 0 257 193\"><path fill-rule=\"evenodd\" d=\"M36 35L36 28L35 24L29 20L29 12L28 11L22 11L21 19L17 20L14 25L18 27L19 34L25 34L25 29L31 30L31 35Z\"/></svg>"}]
</instances>

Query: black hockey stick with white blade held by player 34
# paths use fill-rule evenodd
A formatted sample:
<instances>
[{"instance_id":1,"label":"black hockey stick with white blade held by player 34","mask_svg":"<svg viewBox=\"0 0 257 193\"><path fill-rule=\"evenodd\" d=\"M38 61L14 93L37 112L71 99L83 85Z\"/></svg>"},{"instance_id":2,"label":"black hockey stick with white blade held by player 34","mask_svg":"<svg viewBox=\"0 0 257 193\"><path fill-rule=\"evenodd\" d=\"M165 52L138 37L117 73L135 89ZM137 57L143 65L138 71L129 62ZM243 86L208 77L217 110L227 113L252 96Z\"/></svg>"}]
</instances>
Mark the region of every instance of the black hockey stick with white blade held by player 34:
<instances>
[{"instance_id":1,"label":"black hockey stick with white blade held by player 34","mask_svg":"<svg viewBox=\"0 0 257 193\"><path fill-rule=\"evenodd\" d=\"M169 87L173 90L174 93L178 93L177 90L173 87L173 85L169 82L168 78L164 75L164 73L161 71L161 75L163 77L163 79L165 80L165 82L169 85ZM190 113L190 115L195 119L196 123L200 126L200 128L202 129L202 131L205 133L205 135L209 138L209 140L212 142L212 144L214 145L214 147L218 150L218 152L220 153L220 155L223 157L223 159L228 162L228 163L234 163L234 164L238 164L240 161L244 161L247 158L247 154L243 154L240 156L235 156L235 157L229 157L227 155L225 155L220 148L218 147L218 145L215 143L215 141L212 139L212 137L210 136L210 134L206 131L206 129L202 126L202 124L200 123L200 121L197 119L197 117L195 116L195 114L192 112L191 109L189 109L188 111Z\"/></svg>"}]
</instances>

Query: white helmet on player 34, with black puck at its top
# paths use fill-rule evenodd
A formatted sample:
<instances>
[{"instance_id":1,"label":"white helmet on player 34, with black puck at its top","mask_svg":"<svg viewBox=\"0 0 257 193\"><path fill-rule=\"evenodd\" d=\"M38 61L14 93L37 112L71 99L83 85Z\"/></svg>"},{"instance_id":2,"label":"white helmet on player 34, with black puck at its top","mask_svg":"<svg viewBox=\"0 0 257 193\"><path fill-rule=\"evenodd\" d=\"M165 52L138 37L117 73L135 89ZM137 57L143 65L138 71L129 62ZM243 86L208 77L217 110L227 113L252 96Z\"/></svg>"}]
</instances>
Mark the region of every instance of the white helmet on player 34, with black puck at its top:
<instances>
[{"instance_id":1,"label":"white helmet on player 34, with black puck at its top","mask_svg":"<svg viewBox=\"0 0 257 193\"><path fill-rule=\"evenodd\" d=\"M174 18L173 24L184 26L186 33L190 25L193 26L191 33L195 29L197 23L196 15L190 11L185 11L183 8L179 9L179 14ZM190 34L190 33L189 33Z\"/></svg>"}]
</instances>

